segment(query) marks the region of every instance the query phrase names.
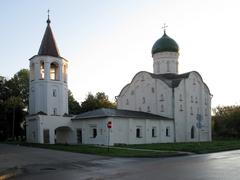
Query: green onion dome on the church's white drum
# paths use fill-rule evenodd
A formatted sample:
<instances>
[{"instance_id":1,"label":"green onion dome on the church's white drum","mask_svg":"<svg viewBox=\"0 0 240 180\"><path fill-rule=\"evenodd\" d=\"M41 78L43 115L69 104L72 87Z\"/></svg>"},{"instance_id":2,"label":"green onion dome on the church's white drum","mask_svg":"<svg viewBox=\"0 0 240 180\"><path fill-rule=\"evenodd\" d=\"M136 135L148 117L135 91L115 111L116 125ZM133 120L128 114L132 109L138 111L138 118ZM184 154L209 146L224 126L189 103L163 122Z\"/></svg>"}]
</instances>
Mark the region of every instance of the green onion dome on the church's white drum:
<instances>
[{"instance_id":1,"label":"green onion dome on the church's white drum","mask_svg":"<svg viewBox=\"0 0 240 180\"><path fill-rule=\"evenodd\" d=\"M164 31L163 36L158 39L152 47L152 55L158 52L178 52L178 44Z\"/></svg>"}]
</instances>

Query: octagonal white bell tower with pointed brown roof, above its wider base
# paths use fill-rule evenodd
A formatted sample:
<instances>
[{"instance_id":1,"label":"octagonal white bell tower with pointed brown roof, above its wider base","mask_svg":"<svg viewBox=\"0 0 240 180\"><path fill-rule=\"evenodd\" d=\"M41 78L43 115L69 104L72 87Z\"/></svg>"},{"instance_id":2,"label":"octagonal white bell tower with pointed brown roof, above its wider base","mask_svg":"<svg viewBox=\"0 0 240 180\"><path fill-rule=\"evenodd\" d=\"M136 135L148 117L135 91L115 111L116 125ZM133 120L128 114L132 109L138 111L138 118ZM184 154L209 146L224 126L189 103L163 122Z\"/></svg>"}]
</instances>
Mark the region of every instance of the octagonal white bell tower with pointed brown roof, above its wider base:
<instances>
[{"instance_id":1,"label":"octagonal white bell tower with pointed brown roof, above its wider base","mask_svg":"<svg viewBox=\"0 0 240 180\"><path fill-rule=\"evenodd\" d=\"M59 54L50 23L48 14L38 54L30 58L30 115L68 114L68 61Z\"/></svg>"}]
</instances>

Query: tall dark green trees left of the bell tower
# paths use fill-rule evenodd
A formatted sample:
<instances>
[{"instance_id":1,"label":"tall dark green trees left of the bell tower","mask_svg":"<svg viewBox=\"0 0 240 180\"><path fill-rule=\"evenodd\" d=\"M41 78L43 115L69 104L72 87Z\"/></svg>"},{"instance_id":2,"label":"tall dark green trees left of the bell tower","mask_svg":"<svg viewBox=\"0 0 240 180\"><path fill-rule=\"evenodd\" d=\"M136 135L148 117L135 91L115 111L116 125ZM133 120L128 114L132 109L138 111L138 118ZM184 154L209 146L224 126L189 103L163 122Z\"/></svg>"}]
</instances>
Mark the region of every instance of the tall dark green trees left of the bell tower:
<instances>
[{"instance_id":1,"label":"tall dark green trees left of the bell tower","mask_svg":"<svg viewBox=\"0 0 240 180\"><path fill-rule=\"evenodd\" d=\"M0 140L23 135L21 123L28 105L29 71L22 69L13 78L0 82Z\"/></svg>"}]
</instances>

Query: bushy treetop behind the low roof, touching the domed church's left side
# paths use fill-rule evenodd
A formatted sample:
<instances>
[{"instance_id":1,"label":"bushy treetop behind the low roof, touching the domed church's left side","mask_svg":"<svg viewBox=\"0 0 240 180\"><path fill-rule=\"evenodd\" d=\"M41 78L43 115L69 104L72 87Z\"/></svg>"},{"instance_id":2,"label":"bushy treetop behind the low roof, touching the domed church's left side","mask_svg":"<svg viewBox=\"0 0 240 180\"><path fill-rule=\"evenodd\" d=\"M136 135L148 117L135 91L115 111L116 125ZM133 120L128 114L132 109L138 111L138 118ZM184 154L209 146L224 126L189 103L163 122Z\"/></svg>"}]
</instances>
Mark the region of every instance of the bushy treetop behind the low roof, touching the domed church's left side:
<instances>
[{"instance_id":1,"label":"bushy treetop behind the low roof, touching the domed church's left side","mask_svg":"<svg viewBox=\"0 0 240 180\"><path fill-rule=\"evenodd\" d=\"M109 101L108 96L104 92L98 92L95 96L92 93L88 93L85 101L81 104L81 112L99 108L116 108L116 104Z\"/></svg>"}]
</instances>

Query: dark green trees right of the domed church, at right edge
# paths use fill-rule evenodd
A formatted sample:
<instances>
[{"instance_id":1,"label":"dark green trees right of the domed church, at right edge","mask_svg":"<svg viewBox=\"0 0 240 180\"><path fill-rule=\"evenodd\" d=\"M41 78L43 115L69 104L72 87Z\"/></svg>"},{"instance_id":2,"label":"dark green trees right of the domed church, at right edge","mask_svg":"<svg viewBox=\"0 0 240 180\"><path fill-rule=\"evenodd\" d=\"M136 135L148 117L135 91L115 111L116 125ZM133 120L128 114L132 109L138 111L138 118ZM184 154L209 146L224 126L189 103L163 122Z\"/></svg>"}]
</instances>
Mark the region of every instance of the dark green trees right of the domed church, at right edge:
<instances>
[{"instance_id":1,"label":"dark green trees right of the domed church, at right edge","mask_svg":"<svg viewBox=\"0 0 240 180\"><path fill-rule=\"evenodd\" d=\"M216 137L240 137L240 106L224 106L215 109L213 132Z\"/></svg>"}]
</instances>

